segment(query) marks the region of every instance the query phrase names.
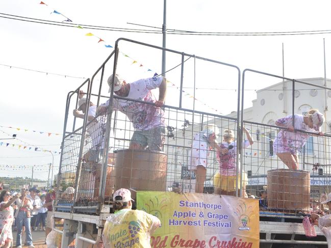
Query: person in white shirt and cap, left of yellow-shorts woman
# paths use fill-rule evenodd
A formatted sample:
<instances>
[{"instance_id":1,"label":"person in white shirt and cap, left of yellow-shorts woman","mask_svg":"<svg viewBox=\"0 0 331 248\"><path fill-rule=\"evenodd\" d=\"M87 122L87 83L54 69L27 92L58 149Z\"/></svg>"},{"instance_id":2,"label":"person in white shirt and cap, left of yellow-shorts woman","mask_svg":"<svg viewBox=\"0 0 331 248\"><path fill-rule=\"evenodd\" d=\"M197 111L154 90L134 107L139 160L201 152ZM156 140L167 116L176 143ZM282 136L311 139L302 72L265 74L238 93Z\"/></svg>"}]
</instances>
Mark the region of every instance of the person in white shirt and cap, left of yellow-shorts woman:
<instances>
[{"instance_id":1,"label":"person in white shirt and cap, left of yellow-shorts woman","mask_svg":"<svg viewBox=\"0 0 331 248\"><path fill-rule=\"evenodd\" d=\"M207 158L211 149L221 150L215 142L218 127L214 124L206 124L202 131L196 133L192 141L191 171L195 173L195 192L203 193L207 175Z\"/></svg>"}]
</instances>

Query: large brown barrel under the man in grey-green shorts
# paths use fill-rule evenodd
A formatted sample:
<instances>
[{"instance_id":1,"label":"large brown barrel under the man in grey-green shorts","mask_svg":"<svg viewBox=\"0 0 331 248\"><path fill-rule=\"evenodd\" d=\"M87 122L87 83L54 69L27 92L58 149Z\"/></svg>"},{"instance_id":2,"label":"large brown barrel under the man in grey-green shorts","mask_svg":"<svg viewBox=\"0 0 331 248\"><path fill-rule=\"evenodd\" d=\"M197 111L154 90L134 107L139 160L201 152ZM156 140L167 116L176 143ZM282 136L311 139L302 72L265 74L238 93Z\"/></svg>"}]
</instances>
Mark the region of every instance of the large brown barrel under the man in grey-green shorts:
<instances>
[{"instance_id":1,"label":"large brown barrel under the man in grey-green shorts","mask_svg":"<svg viewBox=\"0 0 331 248\"><path fill-rule=\"evenodd\" d=\"M147 150L117 150L114 166L115 190L166 189L167 155L164 152ZM132 197L136 193L131 190Z\"/></svg>"}]
</instances>

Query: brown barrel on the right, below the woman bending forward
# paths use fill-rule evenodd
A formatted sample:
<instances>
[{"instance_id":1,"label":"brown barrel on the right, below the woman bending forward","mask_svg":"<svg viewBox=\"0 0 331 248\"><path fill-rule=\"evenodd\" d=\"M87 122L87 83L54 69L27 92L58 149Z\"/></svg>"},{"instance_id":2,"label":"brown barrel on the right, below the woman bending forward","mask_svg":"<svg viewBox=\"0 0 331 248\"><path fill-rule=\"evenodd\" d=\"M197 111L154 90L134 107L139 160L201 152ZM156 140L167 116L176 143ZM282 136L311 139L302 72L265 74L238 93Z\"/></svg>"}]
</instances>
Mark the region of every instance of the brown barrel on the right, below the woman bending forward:
<instances>
[{"instance_id":1,"label":"brown barrel on the right, below the woman bending forward","mask_svg":"<svg viewBox=\"0 0 331 248\"><path fill-rule=\"evenodd\" d=\"M300 211L310 208L310 174L299 170L268 171L268 208Z\"/></svg>"}]
</instances>

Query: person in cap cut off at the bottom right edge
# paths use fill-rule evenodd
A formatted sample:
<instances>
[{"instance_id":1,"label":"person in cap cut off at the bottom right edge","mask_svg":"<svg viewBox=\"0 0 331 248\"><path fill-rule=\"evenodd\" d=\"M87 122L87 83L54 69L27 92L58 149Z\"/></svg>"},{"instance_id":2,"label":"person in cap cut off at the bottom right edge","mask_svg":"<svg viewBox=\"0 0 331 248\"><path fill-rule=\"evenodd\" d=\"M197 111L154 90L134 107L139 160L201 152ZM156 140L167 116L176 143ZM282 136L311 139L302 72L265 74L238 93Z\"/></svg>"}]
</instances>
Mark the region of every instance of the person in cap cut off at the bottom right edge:
<instances>
[{"instance_id":1,"label":"person in cap cut off at the bottom right edge","mask_svg":"<svg viewBox=\"0 0 331 248\"><path fill-rule=\"evenodd\" d=\"M327 198L321 204L326 204L331 209L331 193L327 195ZM319 229L324 233L327 241L327 247L331 248L331 214L319 215L312 213L310 217L311 223L318 226Z\"/></svg>"}]
</instances>

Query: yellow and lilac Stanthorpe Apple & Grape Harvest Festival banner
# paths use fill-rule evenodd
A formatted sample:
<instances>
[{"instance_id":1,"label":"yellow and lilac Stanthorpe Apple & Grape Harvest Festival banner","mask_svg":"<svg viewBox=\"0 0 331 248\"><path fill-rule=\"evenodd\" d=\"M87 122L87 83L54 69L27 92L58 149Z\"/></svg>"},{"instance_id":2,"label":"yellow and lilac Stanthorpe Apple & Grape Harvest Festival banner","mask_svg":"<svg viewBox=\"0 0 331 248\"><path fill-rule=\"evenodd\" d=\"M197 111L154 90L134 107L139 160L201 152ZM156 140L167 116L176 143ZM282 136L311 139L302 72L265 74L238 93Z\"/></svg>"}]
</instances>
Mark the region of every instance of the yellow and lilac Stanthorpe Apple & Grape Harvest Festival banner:
<instances>
[{"instance_id":1,"label":"yellow and lilac Stanthorpe Apple & Grape Harvest Festival banner","mask_svg":"<svg viewBox=\"0 0 331 248\"><path fill-rule=\"evenodd\" d=\"M137 208L159 217L151 247L260 246L259 202L208 194L138 191Z\"/></svg>"}]
</instances>

